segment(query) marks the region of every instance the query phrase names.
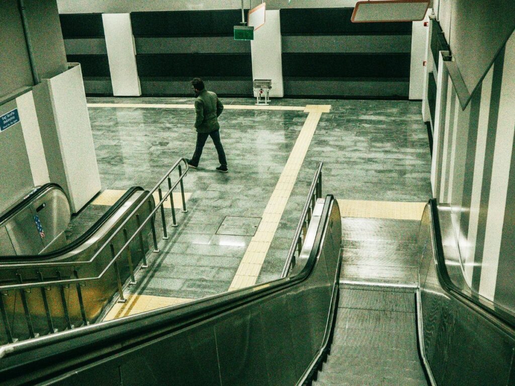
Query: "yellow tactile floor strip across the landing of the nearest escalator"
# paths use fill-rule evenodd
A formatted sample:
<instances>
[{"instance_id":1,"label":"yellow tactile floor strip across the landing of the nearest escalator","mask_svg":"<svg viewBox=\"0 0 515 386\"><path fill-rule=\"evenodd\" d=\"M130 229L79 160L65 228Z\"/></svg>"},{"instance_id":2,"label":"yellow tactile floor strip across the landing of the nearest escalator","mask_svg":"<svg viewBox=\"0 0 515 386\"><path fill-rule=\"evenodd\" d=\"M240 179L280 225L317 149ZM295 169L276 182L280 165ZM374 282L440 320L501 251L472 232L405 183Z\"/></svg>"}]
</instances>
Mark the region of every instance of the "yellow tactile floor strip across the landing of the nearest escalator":
<instances>
[{"instance_id":1,"label":"yellow tactile floor strip across the landing of the nearest escalator","mask_svg":"<svg viewBox=\"0 0 515 386\"><path fill-rule=\"evenodd\" d=\"M341 217L420 221L426 202L338 200Z\"/></svg>"}]
</instances>

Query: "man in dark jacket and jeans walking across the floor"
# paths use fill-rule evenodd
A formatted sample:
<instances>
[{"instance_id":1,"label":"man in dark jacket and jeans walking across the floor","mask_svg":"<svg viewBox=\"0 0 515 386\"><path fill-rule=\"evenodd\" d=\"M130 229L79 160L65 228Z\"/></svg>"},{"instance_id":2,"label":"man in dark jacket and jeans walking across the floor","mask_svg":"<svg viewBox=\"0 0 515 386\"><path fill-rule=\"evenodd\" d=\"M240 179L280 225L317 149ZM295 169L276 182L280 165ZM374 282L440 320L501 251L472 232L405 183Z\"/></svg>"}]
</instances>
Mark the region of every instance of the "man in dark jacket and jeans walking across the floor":
<instances>
[{"instance_id":1,"label":"man in dark jacket and jeans walking across the floor","mask_svg":"<svg viewBox=\"0 0 515 386\"><path fill-rule=\"evenodd\" d=\"M202 79L193 79L192 86L196 96L195 113L197 118L195 119L195 129L197 129L197 144L192 159L187 160L187 163L190 167L197 168L205 141L207 141L208 137L211 137L218 152L218 161L220 162L220 166L216 170L227 173L229 169L227 168L224 147L220 142L220 125L218 124L218 117L224 110L224 105L215 93L205 89Z\"/></svg>"}]
</instances>

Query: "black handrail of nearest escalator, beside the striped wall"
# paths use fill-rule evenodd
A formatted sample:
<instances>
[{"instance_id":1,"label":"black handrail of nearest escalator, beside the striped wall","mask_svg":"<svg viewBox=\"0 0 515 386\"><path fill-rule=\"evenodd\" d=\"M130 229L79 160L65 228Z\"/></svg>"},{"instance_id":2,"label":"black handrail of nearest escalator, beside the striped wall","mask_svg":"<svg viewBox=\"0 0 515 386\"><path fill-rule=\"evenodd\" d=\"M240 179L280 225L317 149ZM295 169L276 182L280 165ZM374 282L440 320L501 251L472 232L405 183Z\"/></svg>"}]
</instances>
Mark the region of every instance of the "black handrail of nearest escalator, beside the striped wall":
<instances>
[{"instance_id":1,"label":"black handrail of nearest escalator, beside the striped wall","mask_svg":"<svg viewBox=\"0 0 515 386\"><path fill-rule=\"evenodd\" d=\"M436 247L436 272L442 289L448 294L453 295L453 297L462 303L475 306L477 311L481 312L486 318L502 328L507 334L515 336L515 317L507 309L494 304L480 295L471 296L453 283L449 276L447 265L445 265L440 220L438 217L438 204L436 199L431 199L429 204L433 224L433 242Z\"/></svg>"}]
</instances>

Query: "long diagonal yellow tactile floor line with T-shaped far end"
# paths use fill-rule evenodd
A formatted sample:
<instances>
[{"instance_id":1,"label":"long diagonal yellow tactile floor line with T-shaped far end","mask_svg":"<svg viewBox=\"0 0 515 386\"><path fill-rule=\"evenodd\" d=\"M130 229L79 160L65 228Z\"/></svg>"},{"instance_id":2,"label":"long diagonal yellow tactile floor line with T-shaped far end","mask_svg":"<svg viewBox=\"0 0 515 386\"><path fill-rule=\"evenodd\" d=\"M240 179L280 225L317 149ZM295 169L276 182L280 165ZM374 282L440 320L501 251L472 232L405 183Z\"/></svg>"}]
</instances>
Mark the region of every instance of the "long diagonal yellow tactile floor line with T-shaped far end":
<instances>
[{"instance_id":1,"label":"long diagonal yellow tactile floor line with T-shaped far end","mask_svg":"<svg viewBox=\"0 0 515 386\"><path fill-rule=\"evenodd\" d=\"M310 146L318 121L322 113L329 112L330 108L331 106L313 105L303 108L303 111L309 114L291 150L288 161L286 161L286 165L277 182L276 188L268 201L258 230L256 230L256 233L250 240L249 246L239 264L236 275L229 287L229 291L252 286L258 280L266 253L270 248L273 235L276 233L291 190L297 180L300 167L304 162L304 157Z\"/></svg>"}]
</instances>

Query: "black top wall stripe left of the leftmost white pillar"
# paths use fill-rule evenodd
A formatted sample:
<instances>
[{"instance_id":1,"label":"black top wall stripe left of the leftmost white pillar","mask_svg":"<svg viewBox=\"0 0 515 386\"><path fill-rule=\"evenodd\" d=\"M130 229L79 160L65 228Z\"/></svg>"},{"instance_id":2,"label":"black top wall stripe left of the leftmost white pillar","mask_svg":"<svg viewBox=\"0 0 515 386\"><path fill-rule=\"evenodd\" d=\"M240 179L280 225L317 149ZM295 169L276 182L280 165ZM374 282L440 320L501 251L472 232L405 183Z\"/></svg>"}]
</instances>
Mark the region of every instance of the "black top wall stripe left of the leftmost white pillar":
<instances>
[{"instance_id":1,"label":"black top wall stripe left of the leftmost white pillar","mask_svg":"<svg viewBox=\"0 0 515 386\"><path fill-rule=\"evenodd\" d=\"M104 37L104 23L100 13L60 14L64 39Z\"/></svg>"}]
</instances>

